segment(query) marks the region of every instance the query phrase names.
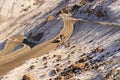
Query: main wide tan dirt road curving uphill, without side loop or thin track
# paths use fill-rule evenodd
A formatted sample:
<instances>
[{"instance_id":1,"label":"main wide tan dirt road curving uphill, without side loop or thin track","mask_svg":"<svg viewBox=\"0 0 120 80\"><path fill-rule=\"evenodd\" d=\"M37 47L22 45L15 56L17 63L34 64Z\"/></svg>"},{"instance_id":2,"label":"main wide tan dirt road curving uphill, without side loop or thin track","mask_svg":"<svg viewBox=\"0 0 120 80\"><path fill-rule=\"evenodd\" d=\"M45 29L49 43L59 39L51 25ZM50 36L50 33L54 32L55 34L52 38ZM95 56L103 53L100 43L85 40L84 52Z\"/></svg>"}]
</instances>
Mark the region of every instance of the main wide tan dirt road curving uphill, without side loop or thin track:
<instances>
[{"instance_id":1,"label":"main wide tan dirt road curving uphill, without side loop or thin track","mask_svg":"<svg viewBox=\"0 0 120 80\"><path fill-rule=\"evenodd\" d=\"M56 48L62 43L65 43L72 35L74 30L74 22L76 19L71 18L67 14L62 14L60 17L63 20L63 28L60 31L58 35L56 35L51 40L48 40L42 44L39 44L33 48L22 48L12 53L6 53L7 55L4 55L0 59L0 75L3 75L10 70L14 69L15 67L20 66L23 64L26 60L29 60L31 58L36 58L39 56L44 55L45 53L48 53L50 50ZM52 43L57 37L60 35L63 35L64 38L60 43Z\"/></svg>"}]
</instances>

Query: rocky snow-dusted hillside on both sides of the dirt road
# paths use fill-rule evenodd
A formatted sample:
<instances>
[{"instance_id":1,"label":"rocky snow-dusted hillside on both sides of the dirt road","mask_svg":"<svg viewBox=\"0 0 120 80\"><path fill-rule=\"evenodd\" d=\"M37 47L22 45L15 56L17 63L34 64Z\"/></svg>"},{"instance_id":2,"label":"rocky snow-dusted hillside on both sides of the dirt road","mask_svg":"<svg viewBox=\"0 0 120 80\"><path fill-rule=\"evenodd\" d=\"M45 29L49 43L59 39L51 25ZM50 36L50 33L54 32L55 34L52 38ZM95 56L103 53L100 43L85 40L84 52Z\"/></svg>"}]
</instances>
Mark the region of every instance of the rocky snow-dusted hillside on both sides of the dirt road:
<instances>
[{"instance_id":1,"label":"rocky snow-dusted hillside on both sides of the dirt road","mask_svg":"<svg viewBox=\"0 0 120 80\"><path fill-rule=\"evenodd\" d=\"M84 21L75 23L67 43L26 61L0 80L120 80L119 4L119 0L1 0L1 49L15 34L35 44L51 39L62 28L57 21L62 12Z\"/></svg>"}]
</instances>

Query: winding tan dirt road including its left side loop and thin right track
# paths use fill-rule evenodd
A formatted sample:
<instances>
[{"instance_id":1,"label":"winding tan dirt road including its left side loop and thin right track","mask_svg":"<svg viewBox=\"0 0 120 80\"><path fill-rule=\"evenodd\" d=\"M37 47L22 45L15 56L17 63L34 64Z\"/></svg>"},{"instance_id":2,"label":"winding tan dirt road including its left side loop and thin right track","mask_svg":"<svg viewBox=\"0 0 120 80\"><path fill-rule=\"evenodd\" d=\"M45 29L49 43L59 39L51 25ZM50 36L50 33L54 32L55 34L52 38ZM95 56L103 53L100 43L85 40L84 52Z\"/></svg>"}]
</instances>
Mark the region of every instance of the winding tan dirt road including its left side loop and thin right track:
<instances>
[{"instance_id":1,"label":"winding tan dirt road including its left side loop and thin right track","mask_svg":"<svg viewBox=\"0 0 120 80\"><path fill-rule=\"evenodd\" d=\"M60 17L63 20L64 26L60 33L56 35L53 39L48 40L42 44L39 44L33 48L30 48L28 45L23 44L24 46L21 49L13 51L14 48L22 43L24 36L14 36L6 42L5 48L0 52L0 75L3 75L15 67L20 66L26 60L31 58L39 57L45 53L48 53L51 49L56 48L62 43L65 43L71 36L74 30L74 22L82 21L82 22L93 22L101 25L112 25L112 26L120 26L120 24L109 23L109 22L97 22L97 21L89 21L83 19L74 19L70 17L68 14L61 14ZM64 35L64 38L60 43L52 43L57 37L60 35Z\"/></svg>"}]
</instances>

